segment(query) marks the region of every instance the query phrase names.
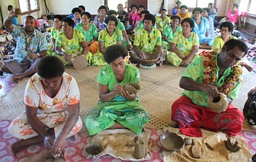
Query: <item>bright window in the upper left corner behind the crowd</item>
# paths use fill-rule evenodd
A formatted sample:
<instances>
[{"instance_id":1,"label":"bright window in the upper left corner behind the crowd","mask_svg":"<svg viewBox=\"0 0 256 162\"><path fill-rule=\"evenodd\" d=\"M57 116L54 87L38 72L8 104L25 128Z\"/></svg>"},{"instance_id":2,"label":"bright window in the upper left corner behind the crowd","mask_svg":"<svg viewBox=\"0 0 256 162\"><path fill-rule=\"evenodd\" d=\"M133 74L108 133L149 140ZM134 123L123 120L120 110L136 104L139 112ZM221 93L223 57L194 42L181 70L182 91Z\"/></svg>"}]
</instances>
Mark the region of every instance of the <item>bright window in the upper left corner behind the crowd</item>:
<instances>
[{"instance_id":1,"label":"bright window in the upper left corner behind the crowd","mask_svg":"<svg viewBox=\"0 0 256 162\"><path fill-rule=\"evenodd\" d=\"M19 0L21 14L39 10L37 0Z\"/></svg>"}]
</instances>

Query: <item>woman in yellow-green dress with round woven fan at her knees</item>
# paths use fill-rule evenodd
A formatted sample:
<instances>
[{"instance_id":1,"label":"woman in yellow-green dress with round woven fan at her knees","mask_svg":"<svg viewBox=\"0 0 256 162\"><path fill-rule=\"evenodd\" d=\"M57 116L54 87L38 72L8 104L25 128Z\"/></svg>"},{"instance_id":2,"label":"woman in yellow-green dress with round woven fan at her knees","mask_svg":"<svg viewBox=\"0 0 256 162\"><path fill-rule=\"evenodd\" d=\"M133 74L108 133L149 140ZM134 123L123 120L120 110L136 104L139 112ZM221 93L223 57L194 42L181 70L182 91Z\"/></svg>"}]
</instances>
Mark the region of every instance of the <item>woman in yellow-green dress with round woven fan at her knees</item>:
<instances>
[{"instance_id":1,"label":"woman in yellow-green dress with round woven fan at her knees","mask_svg":"<svg viewBox=\"0 0 256 162\"><path fill-rule=\"evenodd\" d=\"M62 20L62 30L56 39L56 56L66 65L72 58L84 55L89 61L91 53L88 51L86 40L81 31L74 29L75 22L71 18Z\"/></svg>"}]
</instances>

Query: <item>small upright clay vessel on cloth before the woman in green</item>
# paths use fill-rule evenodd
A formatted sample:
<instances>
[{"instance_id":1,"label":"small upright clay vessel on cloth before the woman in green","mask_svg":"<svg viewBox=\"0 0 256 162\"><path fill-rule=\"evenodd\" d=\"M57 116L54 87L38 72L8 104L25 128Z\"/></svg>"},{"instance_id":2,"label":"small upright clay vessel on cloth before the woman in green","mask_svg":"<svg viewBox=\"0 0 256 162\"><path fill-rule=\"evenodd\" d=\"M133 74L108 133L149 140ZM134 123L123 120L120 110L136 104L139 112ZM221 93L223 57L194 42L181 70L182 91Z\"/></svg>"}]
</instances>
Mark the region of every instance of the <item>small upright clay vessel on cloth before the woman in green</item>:
<instances>
[{"instance_id":1,"label":"small upright clay vessel on cloth before the woman in green","mask_svg":"<svg viewBox=\"0 0 256 162\"><path fill-rule=\"evenodd\" d=\"M142 139L139 136L135 136L134 142L135 150L133 151L133 157L137 159L144 158L146 155L146 149Z\"/></svg>"}]
</instances>

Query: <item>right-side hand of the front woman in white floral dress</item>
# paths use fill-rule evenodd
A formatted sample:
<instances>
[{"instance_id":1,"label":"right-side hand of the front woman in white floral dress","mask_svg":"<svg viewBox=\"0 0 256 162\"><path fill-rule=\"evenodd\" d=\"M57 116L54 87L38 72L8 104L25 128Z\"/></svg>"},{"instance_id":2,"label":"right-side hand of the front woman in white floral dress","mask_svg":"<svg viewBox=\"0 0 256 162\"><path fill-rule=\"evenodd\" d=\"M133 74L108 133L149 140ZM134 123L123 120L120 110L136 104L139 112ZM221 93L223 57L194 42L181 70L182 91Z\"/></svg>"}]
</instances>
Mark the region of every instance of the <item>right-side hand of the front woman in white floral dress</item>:
<instances>
[{"instance_id":1,"label":"right-side hand of the front woman in white floral dress","mask_svg":"<svg viewBox=\"0 0 256 162\"><path fill-rule=\"evenodd\" d=\"M54 158L59 158L64 151L64 144L66 143L66 136L57 136L53 144L52 155Z\"/></svg>"}]
</instances>

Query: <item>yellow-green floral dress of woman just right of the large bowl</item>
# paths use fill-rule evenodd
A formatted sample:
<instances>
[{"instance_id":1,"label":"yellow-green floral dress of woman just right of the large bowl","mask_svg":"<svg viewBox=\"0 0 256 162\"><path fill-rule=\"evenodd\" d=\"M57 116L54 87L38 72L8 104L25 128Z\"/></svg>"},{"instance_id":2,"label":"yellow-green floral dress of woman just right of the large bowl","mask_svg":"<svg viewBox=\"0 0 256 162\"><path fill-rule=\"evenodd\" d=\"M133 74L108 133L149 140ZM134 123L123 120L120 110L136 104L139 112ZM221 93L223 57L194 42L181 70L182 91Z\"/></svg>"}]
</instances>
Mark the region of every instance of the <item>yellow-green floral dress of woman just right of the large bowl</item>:
<instances>
[{"instance_id":1,"label":"yellow-green floral dress of woman just right of the large bowl","mask_svg":"<svg viewBox=\"0 0 256 162\"><path fill-rule=\"evenodd\" d=\"M176 44L176 49L178 50L179 53L182 53L187 57L189 56L192 47L194 45L199 45L199 39L197 34L195 34L194 32L191 32L189 38L184 38L182 31L177 31L173 36L172 43ZM192 58L192 61L197 57L199 56L195 55L194 58ZM167 61L173 64L173 66L181 65L182 59L179 58L176 53L167 53L166 58Z\"/></svg>"}]
</instances>

